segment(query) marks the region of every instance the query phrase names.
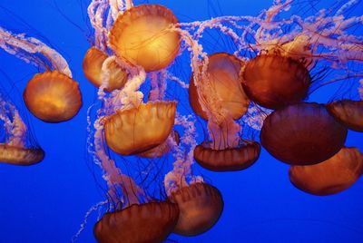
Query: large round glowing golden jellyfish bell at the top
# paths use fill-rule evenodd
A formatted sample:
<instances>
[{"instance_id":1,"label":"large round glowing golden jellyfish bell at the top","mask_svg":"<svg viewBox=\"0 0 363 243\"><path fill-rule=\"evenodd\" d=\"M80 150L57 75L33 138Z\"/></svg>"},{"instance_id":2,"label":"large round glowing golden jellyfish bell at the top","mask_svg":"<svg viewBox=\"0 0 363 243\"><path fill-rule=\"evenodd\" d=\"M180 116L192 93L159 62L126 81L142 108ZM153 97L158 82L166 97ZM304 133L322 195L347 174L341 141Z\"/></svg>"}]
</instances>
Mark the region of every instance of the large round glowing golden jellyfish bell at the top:
<instances>
[{"instance_id":1,"label":"large round glowing golden jellyfish bell at the top","mask_svg":"<svg viewBox=\"0 0 363 243\"><path fill-rule=\"evenodd\" d=\"M113 23L110 48L146 72L161 70L179 53L181 36L171 29L177 23L172 11L162 5L134 6Z\"/></svg>"}]
</instances>

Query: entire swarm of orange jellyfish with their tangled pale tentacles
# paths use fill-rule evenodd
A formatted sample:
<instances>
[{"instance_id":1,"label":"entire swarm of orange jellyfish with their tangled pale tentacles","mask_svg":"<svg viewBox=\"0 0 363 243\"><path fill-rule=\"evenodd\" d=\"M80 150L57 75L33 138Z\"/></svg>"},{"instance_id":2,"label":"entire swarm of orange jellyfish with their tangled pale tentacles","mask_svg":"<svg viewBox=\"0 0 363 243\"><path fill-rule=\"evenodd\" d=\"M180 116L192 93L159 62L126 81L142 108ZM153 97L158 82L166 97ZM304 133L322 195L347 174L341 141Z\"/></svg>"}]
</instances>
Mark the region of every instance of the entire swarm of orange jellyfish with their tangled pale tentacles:
<instances>
[{"instance_id":1,"label":"entire swarm of orange jellyfish with their tangled pale tentacles","mask_svg":"<svg viewBox=\"0 0 363 243\"><path fill-rule=\"evenodd\" d=\"M363 36L354 34L363 15L343 15L357 1L304 18L286 16L292 5L275 0L257 16L182 23L163 5L91 1L83 73L97 99L87 110L87 152L102 171L106 200L85 221L105 209L93 228L98 242L162 242L172 232L208 231L221 217L222 192L194 169L248 170L262 149L289 164L291 184L312 195L358 180L363 154L345 142L348 130L363 131ZM211 29L229 38L234 52L205 51L203 34ZM60 53L2 27L0 47L43 71L25 87L29 112L45 122L77 114L82 94ZM178 72L185 60L187 79ZM354 94L311 99L336 83L353 83ZM26 143L15 106L4 95L0 105L0 160L43 160L44 151Z\"/></svg>"}]
</instances>

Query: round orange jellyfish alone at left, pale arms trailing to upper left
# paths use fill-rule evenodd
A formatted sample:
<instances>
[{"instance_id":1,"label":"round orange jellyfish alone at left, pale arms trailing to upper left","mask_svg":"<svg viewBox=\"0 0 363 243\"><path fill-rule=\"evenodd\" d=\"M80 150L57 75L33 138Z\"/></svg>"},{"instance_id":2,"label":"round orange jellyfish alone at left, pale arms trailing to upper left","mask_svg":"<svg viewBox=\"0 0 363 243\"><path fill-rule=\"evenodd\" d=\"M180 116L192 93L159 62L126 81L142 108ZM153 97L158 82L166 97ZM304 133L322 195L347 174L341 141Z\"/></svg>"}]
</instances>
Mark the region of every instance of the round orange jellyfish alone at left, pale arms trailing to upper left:
<instances>
[{"instance_id":1,"label":"round orange jellyfish alone at left, pale arms trailing to upper left","mask_svg":"<svg viewBox=\"0 0 363 243\"><path fill-rule=\"evenodd\" d=\"M61 122L77 114L82 106L82 95L60 53L34 37L12 34L1 27L0 47L44 69L44 73L36 73L27 83L23 94L26 107L35 117L46 122Z\"/></svg>"}]
</instances>

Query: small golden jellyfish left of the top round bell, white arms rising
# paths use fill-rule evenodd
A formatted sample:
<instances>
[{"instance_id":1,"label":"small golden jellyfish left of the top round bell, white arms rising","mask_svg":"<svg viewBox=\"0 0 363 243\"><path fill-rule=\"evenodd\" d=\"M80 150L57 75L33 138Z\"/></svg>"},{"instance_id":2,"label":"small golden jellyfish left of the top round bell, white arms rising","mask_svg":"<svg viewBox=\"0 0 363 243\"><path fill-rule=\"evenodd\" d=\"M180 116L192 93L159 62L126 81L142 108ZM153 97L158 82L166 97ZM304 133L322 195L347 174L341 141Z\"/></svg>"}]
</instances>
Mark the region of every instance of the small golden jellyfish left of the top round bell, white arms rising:
<instances>
[{"instance_id":1,"label":"small golden jellyfish left of the top round bell, white arms rising","mask_svg":"<svg viewBox=\"0 0 363 243\"><path fill-rule=\"evenodd\" d=\"M115 60L110 52L108 32L114 19L122 11L121 6L105 0L92 1L87 12L93 26L94 38L92 47L87 50L83 58L83 73L97 88L103 84L107 92L123 88L127 81L127 73Z\"/></svg>"}]
</instances>

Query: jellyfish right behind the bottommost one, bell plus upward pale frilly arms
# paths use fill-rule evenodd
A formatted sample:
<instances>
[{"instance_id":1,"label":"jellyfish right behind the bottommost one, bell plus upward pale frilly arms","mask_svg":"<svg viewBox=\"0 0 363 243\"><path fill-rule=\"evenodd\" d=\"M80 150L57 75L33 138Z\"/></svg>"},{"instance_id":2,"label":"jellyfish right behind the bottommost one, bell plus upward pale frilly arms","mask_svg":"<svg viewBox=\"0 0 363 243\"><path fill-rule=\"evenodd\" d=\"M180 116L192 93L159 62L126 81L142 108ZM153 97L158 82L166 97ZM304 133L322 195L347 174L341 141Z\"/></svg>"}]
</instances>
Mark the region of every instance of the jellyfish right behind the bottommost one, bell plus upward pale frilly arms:
<instances>
[{"instance_id":1,"label":"jellyfish right behind the bottommost one, bell plus upward pale frilly arms","mask_svg":"<svg viewBox=\"0 0 363 243\"><path fill-rule=\"evenodd\" d=\"M177 125L184 128L179 146L174 147L173 169L165 175L164 185L169 199L175 202L180 215L173 232L196 236L209 230L220 219L224 207L220 190L192 174L196 129L192 116L178 116Z\"/></svg>"}]
</instances>

